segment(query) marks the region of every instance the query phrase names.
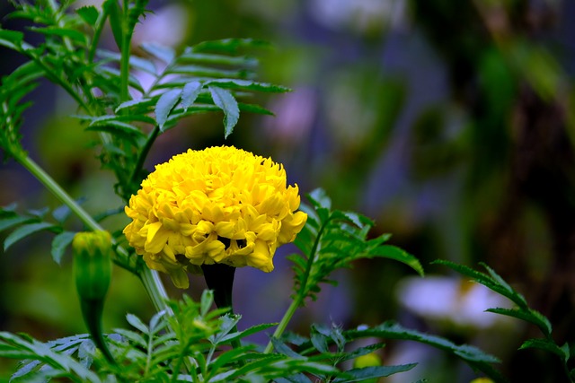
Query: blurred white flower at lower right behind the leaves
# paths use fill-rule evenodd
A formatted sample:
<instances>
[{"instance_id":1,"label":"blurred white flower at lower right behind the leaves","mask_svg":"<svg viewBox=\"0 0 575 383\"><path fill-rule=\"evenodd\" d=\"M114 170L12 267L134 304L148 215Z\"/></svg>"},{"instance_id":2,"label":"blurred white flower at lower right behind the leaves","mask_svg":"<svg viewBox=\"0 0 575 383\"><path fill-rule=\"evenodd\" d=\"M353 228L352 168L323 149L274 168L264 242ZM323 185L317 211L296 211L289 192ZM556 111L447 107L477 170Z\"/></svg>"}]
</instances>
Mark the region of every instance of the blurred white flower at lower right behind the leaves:
<instances>
[{"instance_id":1,"label":"blurred white flower at lower right behind the leaves","mask_svg":"<svg viewBox=\"0 0 575 383\"><path fill-rule=\"evenodd\" d=\"M486 309L512 307L509 300L482 284L443 276L406 278L398 286L397 299L421 318L477 329L508 319Z\"/></svg>"}]
</instances>

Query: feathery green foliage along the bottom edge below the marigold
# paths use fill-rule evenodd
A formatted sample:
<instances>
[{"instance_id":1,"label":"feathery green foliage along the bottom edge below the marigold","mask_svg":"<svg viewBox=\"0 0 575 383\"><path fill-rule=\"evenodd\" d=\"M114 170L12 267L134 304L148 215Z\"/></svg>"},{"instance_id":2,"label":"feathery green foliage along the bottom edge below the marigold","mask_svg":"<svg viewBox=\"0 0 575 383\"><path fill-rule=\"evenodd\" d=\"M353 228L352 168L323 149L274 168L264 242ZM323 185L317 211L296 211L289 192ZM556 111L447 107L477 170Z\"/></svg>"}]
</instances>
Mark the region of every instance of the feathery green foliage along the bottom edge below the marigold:
<instances>
[{"instance_id":1,"label":"feathery green foliage along the bottom edge below the marigold","mask_svg":"<svg viewBox=\"0 0 575 383\"><path fill-rule=\"evenodd\" d=\"M107 335L116 364L95 348L89 335L75 335L47 344L29 336L0 333L0 356L25 359L13 374L14 382L65 378L74 382L263 382L281 381L294 374L349 377L318 358L265 354L254 345L230 344L274 324L237 331L239 316L210 310L212 292L200 302L184 297L172 302L174 316L155 314L149 324L128 315L131 329ZM326 358L323 358L325 360ZM113 380L111 377L113 377ZM345 380L351 381L351 380Z\"/></svg>"}]
</instances>

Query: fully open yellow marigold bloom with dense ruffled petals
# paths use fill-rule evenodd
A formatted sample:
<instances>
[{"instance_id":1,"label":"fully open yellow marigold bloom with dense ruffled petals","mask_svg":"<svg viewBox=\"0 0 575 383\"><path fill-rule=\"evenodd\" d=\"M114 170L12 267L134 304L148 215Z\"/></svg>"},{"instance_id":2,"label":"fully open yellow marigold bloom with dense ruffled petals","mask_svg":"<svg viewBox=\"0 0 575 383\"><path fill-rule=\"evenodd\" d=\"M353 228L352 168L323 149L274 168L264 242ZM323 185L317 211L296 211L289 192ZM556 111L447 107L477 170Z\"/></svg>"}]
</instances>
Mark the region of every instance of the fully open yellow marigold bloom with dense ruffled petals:
<instances>
[{"instance_id":1,"label":"fully open yellow marigold bloom with dense ruffled petals","mask_svg":"<svg viewBox=\"0 0 575 383\"><path fill-rule=\"evenodd\" d=\"M126 206L124 234L150 268L180 288L186 271L215 263L273 270L279 246L307 214L280 164L233 146L184 152L155 167Z\"/></svg>"}]
</instances>

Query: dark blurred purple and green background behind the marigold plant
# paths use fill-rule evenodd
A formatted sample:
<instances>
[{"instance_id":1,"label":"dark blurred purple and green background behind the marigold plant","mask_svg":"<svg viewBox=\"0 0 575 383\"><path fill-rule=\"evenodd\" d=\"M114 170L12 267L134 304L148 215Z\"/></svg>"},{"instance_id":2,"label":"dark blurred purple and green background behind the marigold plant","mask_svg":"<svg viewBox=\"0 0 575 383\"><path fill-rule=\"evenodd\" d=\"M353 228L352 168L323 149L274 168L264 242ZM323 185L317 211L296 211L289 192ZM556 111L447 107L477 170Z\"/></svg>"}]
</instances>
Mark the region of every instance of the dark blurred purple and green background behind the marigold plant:
<instances>
[{"instance_id":1,"label":"dark blurred purple and green background behind the marigold plant","mask_svg":"<svg viewBox=\"0 0 575 383\"><path fill-rule=\"evenodd\" d=\"M486 262L551 319L558 344L575 339L575 3L153 0L150 6L155 13L138 25L135 45L265 39L275 48L259 53L260 79L293 91L261 98L276 116L243 114L227 140L221 115L186 120L158 139L148 169L215 144L271 156L302 192L323 187L338 209L374 219L374 236L392 233L391 243L419 257L427 271L421 279L393 261L359 262L296 314L293 330L305 334L313 321L349 328L395 319L481 346L503 359L511 381L562 381L550 354L516 351L537 335L534 328L482 312L508 302L429 262ZM1 15L11 9L0 2ZM20 62L0 50L0 74ZM111 173L90 150L93 137L68 117L75 105L49 83L32 98L22 129L31 157L72 196L83 197L90 212L118 208ZM0 165L0 180L0 205L58 205L13 161ZM104 223L114 230L126 220ZM70 255L55 264L50 239L37 234L0 253L0 330L42 340L85 331ZM271 274L238 270L234 300L242 326L279 321L287 309L291 251L279 250ZM203 288L195 277L186 293L197 298ZM125 326L128 312L147 319L153 308L137 278L118 269L107 331ZM420 361L410 375L386 381L474 376L419 344L390 343L381 356L389 364ZM0 361L0 380L13 368Z\"/></svg>"}]
</instances>

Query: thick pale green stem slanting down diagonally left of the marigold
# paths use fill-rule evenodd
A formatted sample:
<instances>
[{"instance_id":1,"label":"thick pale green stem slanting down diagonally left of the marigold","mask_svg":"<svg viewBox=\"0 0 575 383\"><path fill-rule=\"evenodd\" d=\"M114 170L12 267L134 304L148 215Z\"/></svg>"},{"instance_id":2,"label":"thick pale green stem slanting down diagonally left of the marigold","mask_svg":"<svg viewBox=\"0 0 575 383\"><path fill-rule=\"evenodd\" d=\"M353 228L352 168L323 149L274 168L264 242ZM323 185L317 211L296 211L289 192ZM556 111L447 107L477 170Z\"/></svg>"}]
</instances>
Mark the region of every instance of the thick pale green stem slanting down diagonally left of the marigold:
<instances>
[{"instance_id":1,"label":"thick pale green stem slanting down diagonally left of the marigold","mask_svg":"<svg viewBox=\"0 0 575 383\"><path fill-rule=\"evenodd\" d=\"M35 161L33 161L28 155L19 155L16 157L16 161L20 162L26 170L30 171L31 174L37 178L44 187L49 189L49 191L57 197L64 205L75 213L75 215L84 222L84 225L92 231L102 231L102 226L96 222L92 215L86 213L86 211L78 205L75 200L69 196L66 191L60 187L54 178L51 178L49 174L40 168ZM128 251L124 248L117 247L116 251L121 255L128 256ZM134 270L130 270L134 272ZM155 309L158 311L166 310L168 315L173 315L172 309L166 304L165 300L168 298L167 293L164 289L164 284L160 280L157 272L148 269L147 267L142 267L137 271L146 292L150 296L150 299L154 303Z\"/></svg>"}]
</instances>

